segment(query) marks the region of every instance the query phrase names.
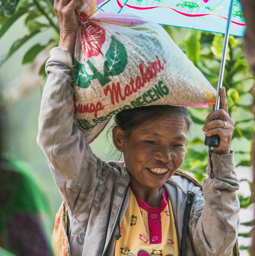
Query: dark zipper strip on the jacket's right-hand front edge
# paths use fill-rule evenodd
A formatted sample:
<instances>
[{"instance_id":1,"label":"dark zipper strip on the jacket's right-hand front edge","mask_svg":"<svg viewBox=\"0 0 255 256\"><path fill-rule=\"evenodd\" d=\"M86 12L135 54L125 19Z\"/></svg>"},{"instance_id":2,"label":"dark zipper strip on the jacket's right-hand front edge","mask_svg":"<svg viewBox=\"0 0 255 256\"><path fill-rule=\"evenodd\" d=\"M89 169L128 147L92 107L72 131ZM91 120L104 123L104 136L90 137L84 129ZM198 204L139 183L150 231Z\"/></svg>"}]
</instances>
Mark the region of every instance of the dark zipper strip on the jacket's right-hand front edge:
<instances>
[{"instance_id":1,"label":"dark zipper strip on the jacket's right-hand front edge","mask_svg":"<svg viewBox=\"0 0 255 256\"><path fill-rule=\"evenodd\" d=\"M190 220L191 214L191 207L195 199L194 191L188 190L187 191L187 200L186 200L186 207L184 211L184 218L183 218L183 229L182 229L182 239L180 242L180 256L186 256L186 240L187 240L187 233L188 233L188 221Z\"/></svg>"}]
</instances>

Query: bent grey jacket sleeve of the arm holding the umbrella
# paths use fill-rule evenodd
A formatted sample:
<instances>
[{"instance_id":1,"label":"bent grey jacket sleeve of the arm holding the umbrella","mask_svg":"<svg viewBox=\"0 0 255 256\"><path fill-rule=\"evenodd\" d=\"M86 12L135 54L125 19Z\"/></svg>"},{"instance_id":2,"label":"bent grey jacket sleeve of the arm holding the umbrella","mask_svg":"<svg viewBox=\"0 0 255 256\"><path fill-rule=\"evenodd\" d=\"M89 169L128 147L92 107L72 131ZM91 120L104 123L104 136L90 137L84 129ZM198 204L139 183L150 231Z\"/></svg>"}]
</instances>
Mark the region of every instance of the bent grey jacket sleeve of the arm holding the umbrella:
<instances>
[{"instance_id":1,"label":"bent grey jacket sleeve of the arm holding the umbrella","mask_svg":"<svg viewBox=\"0 0 255 256\"><path fill-rule=\"evenodd\" d=\"M204 179L205 202L199 199L195 202L189 225L198 255L226 256L236 242L239 225L234 153L221 156L212 153L212 163L215 177ZM208 175L210 172L208 164Z\"/></svg>"}]
</instances>

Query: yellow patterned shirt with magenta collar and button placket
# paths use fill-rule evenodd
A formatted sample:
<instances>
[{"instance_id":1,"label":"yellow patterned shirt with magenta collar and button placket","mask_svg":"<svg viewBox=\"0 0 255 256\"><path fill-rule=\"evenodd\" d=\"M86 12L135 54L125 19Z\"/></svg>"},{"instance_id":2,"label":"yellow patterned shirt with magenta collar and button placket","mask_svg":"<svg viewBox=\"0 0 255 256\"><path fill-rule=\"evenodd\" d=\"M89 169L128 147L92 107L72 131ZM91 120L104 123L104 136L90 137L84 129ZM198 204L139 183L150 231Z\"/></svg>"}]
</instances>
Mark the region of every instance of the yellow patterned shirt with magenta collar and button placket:
<instances>
[{"instance_id":1,"label":"yellow patterned shirt with magenta collar and button placket","mask_svg":"<svg viewBox=\"0 0 255 256\"><path fill-rule=\"evenodd\" d=\"M116 240L116 256L178 256L174 215L167 192L160 207L150 207L136 198L129 188L130 199Z\"/></svg>"}]
</instances>

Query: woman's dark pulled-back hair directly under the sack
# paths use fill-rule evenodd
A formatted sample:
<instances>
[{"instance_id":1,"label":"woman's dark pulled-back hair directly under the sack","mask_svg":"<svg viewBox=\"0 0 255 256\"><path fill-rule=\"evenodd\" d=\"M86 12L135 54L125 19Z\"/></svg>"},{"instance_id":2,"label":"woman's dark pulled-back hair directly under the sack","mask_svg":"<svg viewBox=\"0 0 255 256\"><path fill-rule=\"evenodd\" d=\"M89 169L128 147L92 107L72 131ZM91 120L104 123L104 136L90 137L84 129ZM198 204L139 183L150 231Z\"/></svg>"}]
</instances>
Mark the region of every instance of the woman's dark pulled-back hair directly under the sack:
<instances>
[{"instance_id":1,"label":"woman's dark pulled-back hair directly under the sack","mask_svg":"<svg viewBox=\"0 0 255 256\"><path fill-rule=\"evenodd\" d=\"M142 125L144 122L152 119L158 119L169 111L174 111L180 116L183 116L187 124L187 128L190 128L192 119L188 109L186 107L170 105L155 105L121 110L120 113L114 117L114 126L120 126L122 130L129 133L132 129Z\"/></svg>"}]
</instances>

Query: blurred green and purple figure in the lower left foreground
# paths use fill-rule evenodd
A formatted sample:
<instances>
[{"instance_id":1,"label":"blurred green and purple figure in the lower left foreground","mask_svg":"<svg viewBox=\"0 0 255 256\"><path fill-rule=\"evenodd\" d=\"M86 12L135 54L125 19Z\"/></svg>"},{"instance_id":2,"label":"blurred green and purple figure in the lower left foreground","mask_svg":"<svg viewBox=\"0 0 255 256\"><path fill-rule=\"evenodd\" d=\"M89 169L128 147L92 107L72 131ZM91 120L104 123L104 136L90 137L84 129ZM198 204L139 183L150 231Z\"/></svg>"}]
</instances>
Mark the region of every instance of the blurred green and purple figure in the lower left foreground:
<instances>
[{"instance_id":1,"label":"blurred green and purple figure in the lower left foreground","mask_svg":"<svg viewBox=\"0 0 255 256\"><path fill-rule=\"evenodd\" d=\"M4 153L0 113L0 255L52 255L46 234L47 223L51 223L46 198L29 165Z\"/></svg>"}]
</instances>

